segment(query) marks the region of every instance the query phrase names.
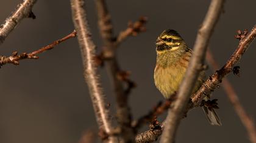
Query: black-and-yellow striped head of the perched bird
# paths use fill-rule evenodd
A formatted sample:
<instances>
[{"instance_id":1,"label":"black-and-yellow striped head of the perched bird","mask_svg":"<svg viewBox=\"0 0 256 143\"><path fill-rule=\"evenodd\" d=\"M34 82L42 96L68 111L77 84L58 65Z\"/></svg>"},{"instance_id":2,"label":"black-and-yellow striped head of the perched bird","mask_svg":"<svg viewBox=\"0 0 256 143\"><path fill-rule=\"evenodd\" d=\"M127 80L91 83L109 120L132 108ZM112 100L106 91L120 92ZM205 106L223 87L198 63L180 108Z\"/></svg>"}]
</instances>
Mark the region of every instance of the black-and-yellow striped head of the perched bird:
<instances>
[{"instance_id":1,"label":"black-and-yellow striped head of the perched bird","mask_svg":"<svg viewBox=\"0 0 256 143\"><path fill-rule=\"evenodd\" d=\"M187 47L179 33L171 29L164 30L158 36L155 44L157 45L157 53L174 52Z\"/></svg>"}]
</instances>

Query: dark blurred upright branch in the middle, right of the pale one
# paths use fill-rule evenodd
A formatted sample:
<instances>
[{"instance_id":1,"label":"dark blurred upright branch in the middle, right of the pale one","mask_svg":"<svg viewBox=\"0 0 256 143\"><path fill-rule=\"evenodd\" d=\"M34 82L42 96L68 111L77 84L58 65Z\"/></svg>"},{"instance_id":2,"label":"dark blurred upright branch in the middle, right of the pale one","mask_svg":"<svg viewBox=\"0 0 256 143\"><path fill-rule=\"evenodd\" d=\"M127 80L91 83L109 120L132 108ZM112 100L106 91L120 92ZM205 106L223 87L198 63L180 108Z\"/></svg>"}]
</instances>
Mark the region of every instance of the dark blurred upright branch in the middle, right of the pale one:
<instances>
[{"instance_id":1,"label":"dark blurred upright branch in the middle, right of the pale one","mask_svg":"<svg viewBox=\"0 0 256 143\"><path fill-rule=\"evenodd\" d=\"M95 3L98 11L98 25L105 45L103 49L103 55L107 59L105 66L116 96L116 116L121 128L121 140L123 142L134 142L135 133L131 127L132 115L128 105L128 96L124 92L122 81L118 79L120 69L115 54L116 44L113 38L113 25L110 14L108 13L105 0L95 0Z\"/></svg>"}]
</instances>

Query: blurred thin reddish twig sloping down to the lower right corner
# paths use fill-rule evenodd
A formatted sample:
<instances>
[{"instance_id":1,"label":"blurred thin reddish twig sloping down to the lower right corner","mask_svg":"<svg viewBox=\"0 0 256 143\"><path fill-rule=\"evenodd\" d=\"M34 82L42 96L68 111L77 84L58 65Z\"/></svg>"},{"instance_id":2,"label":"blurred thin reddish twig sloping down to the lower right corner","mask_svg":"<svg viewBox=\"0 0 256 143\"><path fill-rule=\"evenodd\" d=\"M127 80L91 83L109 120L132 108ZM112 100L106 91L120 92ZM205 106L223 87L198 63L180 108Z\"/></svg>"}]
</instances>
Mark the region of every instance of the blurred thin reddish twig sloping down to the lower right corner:
<instances>
[{"instance_id":1,"label":"blurred thin reddish twig sloping down to the lower right corner","mask_svg":"<svg viewBox=\"0 0 256 143\"><path fill-rule=\"evenodd\" d=\"M219 65L216 62L215 58L213 57L212 52L210 52L210 49L207 50L206 59L208 63L212 65L213 70L219 69ZM227 97L229 98L229 101L232 103L233 107L235 108L236 114L239 116L241 122L246 128L251 142L256 143L256 128L254 125L254 121L246 113L246 110L244 110L243 105L239 101L238 95L235 92L235 89L233 88L232 84L229 82L227 78L222 79L222 85L227 94Z\"/></svg>"}]
</instances>

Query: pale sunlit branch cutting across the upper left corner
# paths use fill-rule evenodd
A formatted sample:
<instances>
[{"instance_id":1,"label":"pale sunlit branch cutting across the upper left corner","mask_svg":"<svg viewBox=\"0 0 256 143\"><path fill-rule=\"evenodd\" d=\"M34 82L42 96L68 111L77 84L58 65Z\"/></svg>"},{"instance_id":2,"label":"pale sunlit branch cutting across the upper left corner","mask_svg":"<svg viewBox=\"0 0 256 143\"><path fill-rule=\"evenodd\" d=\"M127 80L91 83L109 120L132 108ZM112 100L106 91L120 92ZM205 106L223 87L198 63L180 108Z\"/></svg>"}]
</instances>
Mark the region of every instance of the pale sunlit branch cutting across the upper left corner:
<instances>
[{"instance_id":1,"label":"pale sunlit branch cutting across the upper left corner","mask_svg":"<svg viewBox=\"0 0 256 143\"><path fill-rule=\"evenodd\" d=\"M4 42L5 38L12 32L12 30L18 25L23 18L35 19L34 13L32 13L32 7L37 0L23 0L9 16L5 19L4 24L0 26L0 45Z\"/></svg>"}]
</instances>

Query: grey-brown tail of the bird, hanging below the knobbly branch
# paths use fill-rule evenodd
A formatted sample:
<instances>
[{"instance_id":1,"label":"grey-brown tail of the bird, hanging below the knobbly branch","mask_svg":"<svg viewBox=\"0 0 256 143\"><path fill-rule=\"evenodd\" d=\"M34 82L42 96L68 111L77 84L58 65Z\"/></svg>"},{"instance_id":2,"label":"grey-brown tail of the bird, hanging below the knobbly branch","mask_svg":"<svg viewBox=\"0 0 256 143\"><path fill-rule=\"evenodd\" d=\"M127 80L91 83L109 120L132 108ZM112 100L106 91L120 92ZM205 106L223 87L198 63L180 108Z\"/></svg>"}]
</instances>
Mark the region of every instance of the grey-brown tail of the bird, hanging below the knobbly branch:
<instances>
[{"instance_id":1,"label":"grey-brown tail of the bird, hanging below the knobbly branch","mask_svg":"<svg viewBox=\"0 0 256 143\"><path fill-rule=\"evenodd\" d=\"M219 116L217 115L214 108L208 108L203 105L202 109L204 110L204 113L211 125L221 126L221 120L219 119Z\"/></svg>"}]
</instances>

